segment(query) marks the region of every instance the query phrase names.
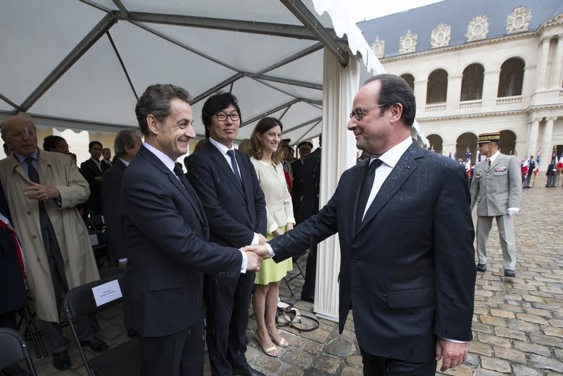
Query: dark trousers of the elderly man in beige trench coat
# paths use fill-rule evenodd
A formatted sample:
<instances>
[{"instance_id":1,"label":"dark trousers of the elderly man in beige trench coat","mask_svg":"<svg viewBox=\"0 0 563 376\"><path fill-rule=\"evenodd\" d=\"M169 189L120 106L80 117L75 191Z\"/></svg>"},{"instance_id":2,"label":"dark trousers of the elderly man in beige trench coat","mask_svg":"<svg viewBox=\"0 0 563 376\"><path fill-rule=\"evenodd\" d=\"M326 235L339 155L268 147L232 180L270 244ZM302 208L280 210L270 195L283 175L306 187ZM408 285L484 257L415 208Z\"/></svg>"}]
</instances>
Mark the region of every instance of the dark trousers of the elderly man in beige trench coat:
<instances>
[{"instance_id":1,"label":"dark trousers of the elderly man in beige trench coat","mask_svg":"<svg viewBox=\"0 0 563 376\"><path fill-rule=\"evenodd\" d=\"M61 313L63 296L68 292L68 282L65 276L65 266L61 249L58 246L55 230L46 211L39 211L39 223L42 229L43 245L45 247L51 283L55 292L57 312ZM68 349L68 339L63 336L63 331L58 322L39 320L41 329L45 332L49 343L49 350L53 353ZM79 339L89 339L94 335L94 315L77 318L77 334Z\"/></svg>"}]
</instances>

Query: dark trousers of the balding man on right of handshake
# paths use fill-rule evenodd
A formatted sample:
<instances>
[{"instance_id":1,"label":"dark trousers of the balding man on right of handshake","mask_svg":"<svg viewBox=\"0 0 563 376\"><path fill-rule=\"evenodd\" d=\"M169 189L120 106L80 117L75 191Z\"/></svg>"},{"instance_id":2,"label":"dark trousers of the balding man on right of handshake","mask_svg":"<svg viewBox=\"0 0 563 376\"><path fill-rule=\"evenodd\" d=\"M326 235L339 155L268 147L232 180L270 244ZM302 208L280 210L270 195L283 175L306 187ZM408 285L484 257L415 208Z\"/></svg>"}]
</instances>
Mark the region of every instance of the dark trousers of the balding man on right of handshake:
<instances>
[{"instance_id":1,"label":"dark trousers of the balding man on right of handshake","mask_svg":"<svg viewBox=\"0 0 563 376\"><path fill-rule=\"evenodd\" d=\"M364 376L434 376L436 361L415 363L375 356L360 349L364 363Z\"/></svg>"}]
</instances>

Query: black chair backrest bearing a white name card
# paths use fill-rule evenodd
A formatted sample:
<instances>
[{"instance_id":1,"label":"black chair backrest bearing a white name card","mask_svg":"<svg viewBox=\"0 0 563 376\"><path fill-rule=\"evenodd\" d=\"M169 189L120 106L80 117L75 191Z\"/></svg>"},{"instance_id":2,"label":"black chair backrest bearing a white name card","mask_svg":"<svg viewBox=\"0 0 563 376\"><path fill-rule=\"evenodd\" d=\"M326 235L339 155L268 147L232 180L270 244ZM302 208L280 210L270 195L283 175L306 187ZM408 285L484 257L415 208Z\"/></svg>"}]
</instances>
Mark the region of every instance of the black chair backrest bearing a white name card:
<instances>
[{"instance_id":1,"label":"black chair backrest bearing a white name card","mask_svg":"<svg viewBox=\"0 0 563 376\"><path fill-rule=\"evenodd\" d=\"M94 298L92 289L114 280L118 280L121 288L121 282L118 277L107 277L70 289L70 291L65 294L65 300L63 301L63 308L68 319L71 320L88 313L96 313L99 309L112 306L113 304L122 301L122 298L118 298L105 303L102 306L98 306L96 304L96 299Z\"/></svg>"}]
</instances>

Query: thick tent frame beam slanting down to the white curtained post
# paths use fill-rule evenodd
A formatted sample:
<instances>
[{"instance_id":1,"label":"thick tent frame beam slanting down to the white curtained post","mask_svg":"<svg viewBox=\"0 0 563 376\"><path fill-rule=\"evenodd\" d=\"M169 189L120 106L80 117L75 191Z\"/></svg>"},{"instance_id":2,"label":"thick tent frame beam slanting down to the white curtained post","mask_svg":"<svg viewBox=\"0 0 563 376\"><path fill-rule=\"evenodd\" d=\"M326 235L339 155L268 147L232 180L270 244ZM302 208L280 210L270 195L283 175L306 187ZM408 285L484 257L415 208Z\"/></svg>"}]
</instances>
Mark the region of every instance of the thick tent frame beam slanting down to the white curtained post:
<instances>
[{"instance_id":1,"label":"thick tent frame beam slanting down to the white curtained post","mask_svg":"<svg viewBox=\"0 0 563 376\"><path fill-rule=\"evenodd\" d=\"M284 4L288 10L296 16L298 20L305 25L307 30L310 30L315 35L315 39L319 40L324 44L324 47L330 51L339 61L340 65L346 67L350 56L347 51L340 46L339 41L335 38L334 30L333 33L329 32L329 29L325 28L318 20L315 15L309 11L309 9L301 2L301 0L279 0L281 4Z\"/></svg>"}]
</instances>

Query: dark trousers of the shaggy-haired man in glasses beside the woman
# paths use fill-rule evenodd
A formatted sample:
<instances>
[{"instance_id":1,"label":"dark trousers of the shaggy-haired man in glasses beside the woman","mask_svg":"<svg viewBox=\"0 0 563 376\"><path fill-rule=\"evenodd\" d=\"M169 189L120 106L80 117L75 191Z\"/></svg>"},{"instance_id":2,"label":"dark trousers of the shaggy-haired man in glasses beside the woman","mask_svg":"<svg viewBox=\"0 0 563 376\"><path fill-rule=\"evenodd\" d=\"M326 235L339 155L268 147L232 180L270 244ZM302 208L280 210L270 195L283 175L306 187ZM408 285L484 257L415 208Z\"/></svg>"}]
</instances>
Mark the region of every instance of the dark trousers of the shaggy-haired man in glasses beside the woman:
<instances>
[{"instance_id":1,"label":"dark trousers of the shaggy-haired man in glasses beside the woman","mask_svg":"<svg viewBox=\"0 0 563 376\"><path fill-rule=\"evenodd\" d=\"M205 275L207 347L211 372L232 375L233 368L246 367L246 327L255 272Z\"/></svg>"}]
</instances>

